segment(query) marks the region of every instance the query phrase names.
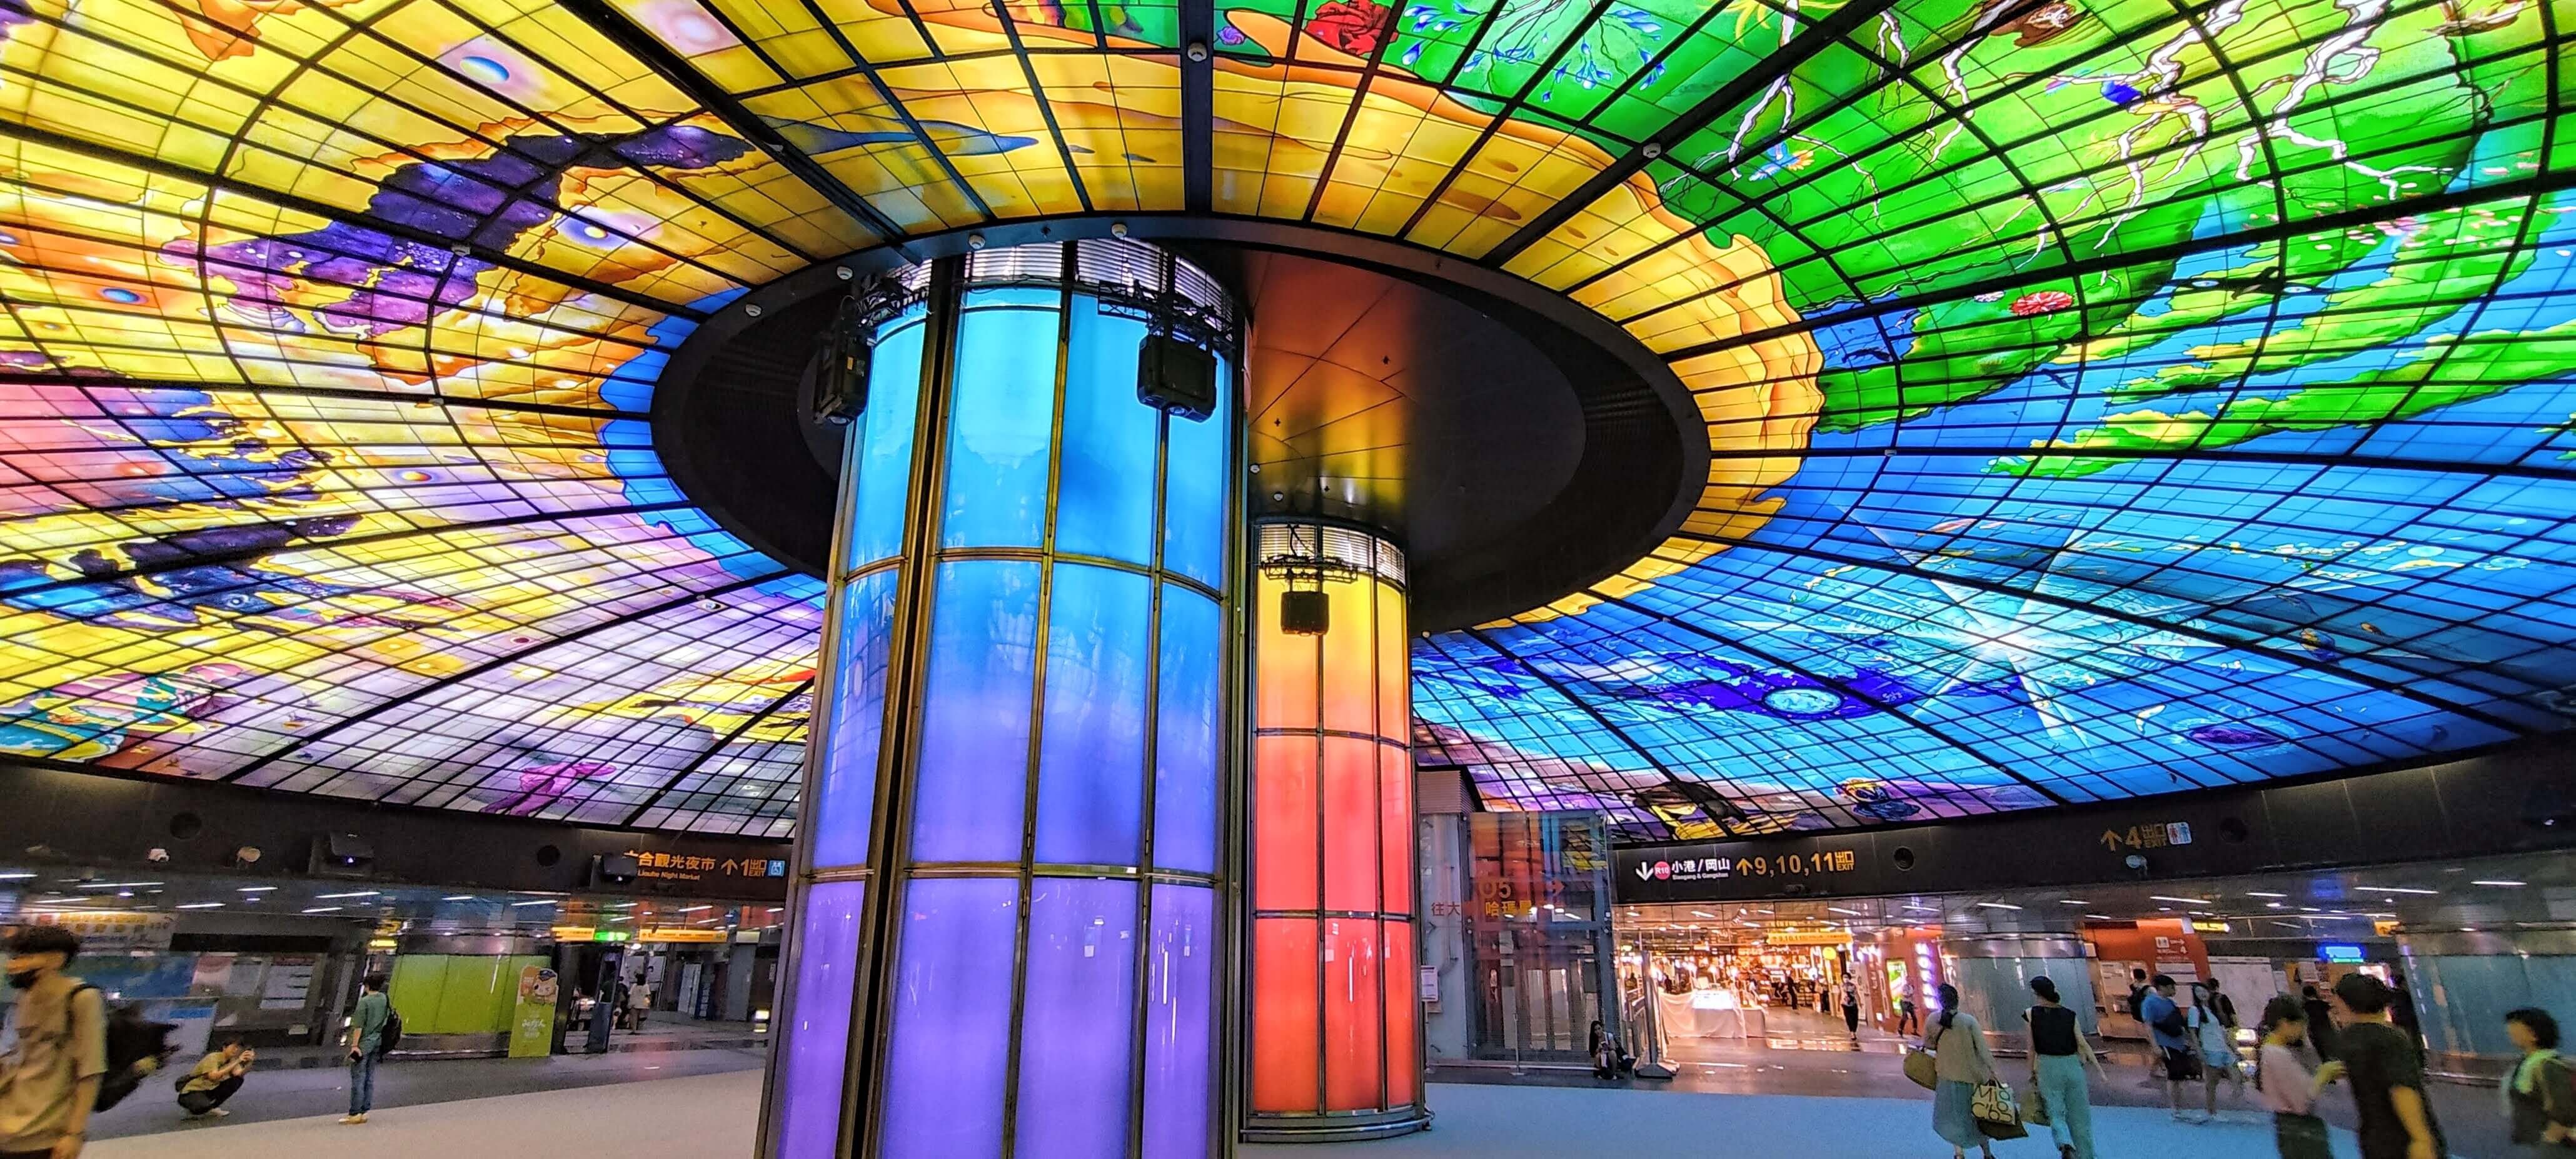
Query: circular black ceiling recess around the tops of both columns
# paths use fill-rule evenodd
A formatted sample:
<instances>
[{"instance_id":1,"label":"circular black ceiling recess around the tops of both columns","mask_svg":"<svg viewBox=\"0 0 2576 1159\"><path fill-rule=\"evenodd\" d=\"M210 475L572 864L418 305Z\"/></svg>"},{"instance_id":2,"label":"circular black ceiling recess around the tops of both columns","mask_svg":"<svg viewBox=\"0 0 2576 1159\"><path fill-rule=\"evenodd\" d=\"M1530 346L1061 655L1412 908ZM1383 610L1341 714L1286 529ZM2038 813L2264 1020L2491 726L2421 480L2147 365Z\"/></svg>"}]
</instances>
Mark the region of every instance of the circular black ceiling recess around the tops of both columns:
<instances>
[{"instance_id":1,"label":"circular black ceiling recess around the tops of both columns","mask_svg":"<svg viewBox=\"0 0 2576 1159\"><path fill-rule=\"evenodd\" d=\"M1226 232L1249 237L1157 242L1249 312L1249 510L1383 528L1406 549L1419 631L1577 592L1690 513L1708 461L1698 410L1625 332L1383 242ZM652 410L680 489L809 574L832 546L840 428L809 420L806 363L845 288L817 268L734 301L675 353Z\"/></svg>"}]
</instances>

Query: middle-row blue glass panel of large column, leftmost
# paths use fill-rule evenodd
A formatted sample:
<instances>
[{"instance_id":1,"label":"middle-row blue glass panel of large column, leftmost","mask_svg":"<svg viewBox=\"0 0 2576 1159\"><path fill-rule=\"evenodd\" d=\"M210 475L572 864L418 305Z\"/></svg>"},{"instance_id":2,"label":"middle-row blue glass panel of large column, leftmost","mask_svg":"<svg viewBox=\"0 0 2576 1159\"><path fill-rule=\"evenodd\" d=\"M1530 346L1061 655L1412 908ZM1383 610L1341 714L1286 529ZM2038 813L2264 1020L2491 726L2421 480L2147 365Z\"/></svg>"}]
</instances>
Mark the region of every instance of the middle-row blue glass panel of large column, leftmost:
<instances>
[{"instance_id":1,"label":"middle-row blue glass panel of large column, leftmost","mask_svg":"<svg viewBox=\"0 0 2576 1159\"><path fill-rule=\"evenodd\" d=\"M894 639L896 569L868 572L840 592L832 716L814 780L814 865L868 860L876 816L876 755L886 731L886 644Z\"/></svg>"}]
</instances>

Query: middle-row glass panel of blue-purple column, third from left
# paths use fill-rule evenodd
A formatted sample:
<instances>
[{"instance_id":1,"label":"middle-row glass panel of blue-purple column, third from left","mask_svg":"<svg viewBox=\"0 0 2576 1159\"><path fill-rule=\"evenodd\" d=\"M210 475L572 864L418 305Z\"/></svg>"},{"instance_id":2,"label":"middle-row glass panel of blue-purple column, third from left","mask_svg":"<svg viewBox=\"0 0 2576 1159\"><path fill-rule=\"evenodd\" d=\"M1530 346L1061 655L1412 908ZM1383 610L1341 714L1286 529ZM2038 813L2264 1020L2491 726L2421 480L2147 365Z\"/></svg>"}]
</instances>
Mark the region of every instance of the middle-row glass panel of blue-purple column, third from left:
<instances>
[{"instance_id":1,"label":"middle-row glass panel of blue-purple column, third from left","mask_svg":"<svg viewBox=\"0 0 2576 1159\"><path fill-rule=\"evenodd\" d=\"M1056 567L1038 731L1038 860L1136 865L1144 814L1146 577Z\"/></svg>"}]
</instances>

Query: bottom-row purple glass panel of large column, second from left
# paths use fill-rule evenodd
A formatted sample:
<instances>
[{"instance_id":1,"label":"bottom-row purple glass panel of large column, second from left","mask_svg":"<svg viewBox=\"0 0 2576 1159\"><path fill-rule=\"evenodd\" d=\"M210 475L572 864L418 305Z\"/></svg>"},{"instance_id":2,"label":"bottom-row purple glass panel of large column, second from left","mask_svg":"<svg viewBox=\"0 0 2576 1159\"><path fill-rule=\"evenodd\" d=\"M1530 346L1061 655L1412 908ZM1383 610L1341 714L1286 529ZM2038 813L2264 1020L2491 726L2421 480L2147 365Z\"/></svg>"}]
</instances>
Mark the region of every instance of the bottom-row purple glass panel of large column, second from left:
<instances>
[{"instance_id":1,"label":"bottom-row purple glass panel of large column, second from left","mask_svg":"<svg viewBox=\"0 0 2576 1159\"><path fill-rule=\"evenodd\" d=\"M1020 883L1010 878L933 878L907 889L878 1128L884 1159L999 1159L1018 912Z\"/></svg>"}]
</instances>

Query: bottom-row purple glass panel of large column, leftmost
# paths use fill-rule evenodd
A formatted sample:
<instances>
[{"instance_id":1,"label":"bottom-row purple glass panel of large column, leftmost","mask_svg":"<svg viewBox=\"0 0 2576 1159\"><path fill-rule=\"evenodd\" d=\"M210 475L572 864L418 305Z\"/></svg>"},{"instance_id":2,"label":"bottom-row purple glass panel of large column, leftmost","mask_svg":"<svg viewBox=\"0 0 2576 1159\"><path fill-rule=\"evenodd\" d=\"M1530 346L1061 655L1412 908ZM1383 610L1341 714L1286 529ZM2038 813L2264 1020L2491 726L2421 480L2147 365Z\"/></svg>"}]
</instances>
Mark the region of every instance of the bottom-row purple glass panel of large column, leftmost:
<instances>
[{"instance_id":1,"label":"bottom-row purple glass panel of large column, leftmost","mask_svg":"<svg viewBox=\"0 0 2576 1159\"><path fill-rule=\"evenodd\" d=\"M837 1154L858 909L868 886L832 881L796 914L796 1010L778 1043L778 1154Z\"/></svg>"}]
</instances>

